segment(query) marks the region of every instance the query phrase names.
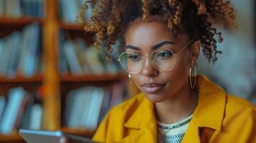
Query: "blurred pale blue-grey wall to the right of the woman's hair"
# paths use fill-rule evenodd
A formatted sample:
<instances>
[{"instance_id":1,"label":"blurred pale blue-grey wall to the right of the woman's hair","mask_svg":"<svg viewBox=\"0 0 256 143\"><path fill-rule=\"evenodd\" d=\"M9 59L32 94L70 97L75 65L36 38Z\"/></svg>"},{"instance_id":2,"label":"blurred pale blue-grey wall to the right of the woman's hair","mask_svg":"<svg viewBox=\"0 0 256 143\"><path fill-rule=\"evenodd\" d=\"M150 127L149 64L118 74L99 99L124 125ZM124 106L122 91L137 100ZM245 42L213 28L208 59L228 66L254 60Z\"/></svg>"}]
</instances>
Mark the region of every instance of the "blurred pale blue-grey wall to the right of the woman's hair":
<instances>
[{"instance_id":1,"label":"blurred pale blue-grey wall to the right of the woman's hair","mask_svg":"<svg viewBox=\"0 0 256 143\"><path fill-rule=\"evenodd\" d=\"M253 0L230 2L235 9L237 29L219 29L224 41L218 48L223 54L219 54L217 63L212 65L201 52L199 72L207 74L227 92L248 98L256 90L255 4Z\"/></svg>"}]
</instances>

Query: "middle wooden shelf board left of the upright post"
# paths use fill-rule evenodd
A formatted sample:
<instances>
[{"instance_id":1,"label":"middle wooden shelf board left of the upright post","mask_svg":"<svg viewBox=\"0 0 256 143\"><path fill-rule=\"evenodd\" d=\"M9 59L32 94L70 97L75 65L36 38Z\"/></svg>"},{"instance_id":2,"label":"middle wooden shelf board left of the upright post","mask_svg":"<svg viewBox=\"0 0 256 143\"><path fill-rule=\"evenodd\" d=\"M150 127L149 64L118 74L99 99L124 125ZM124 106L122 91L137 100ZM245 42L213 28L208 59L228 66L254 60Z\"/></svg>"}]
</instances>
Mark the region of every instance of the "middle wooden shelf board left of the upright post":
<instances>
[{"instance_id":1,"label":"middle wooden shelf board left of the upright post","mask_svg":"<svg viewBox=\"0 0 256 143\"><path fill-rule=\"evenodd\" d=\"M18 83L40 83L42 82L42 75L37 75L34 77L23 77L23 76L17 76L13 79L9 79L7 77L0 77L0 84L18 84Z\"/></svg>"}]
</instances>

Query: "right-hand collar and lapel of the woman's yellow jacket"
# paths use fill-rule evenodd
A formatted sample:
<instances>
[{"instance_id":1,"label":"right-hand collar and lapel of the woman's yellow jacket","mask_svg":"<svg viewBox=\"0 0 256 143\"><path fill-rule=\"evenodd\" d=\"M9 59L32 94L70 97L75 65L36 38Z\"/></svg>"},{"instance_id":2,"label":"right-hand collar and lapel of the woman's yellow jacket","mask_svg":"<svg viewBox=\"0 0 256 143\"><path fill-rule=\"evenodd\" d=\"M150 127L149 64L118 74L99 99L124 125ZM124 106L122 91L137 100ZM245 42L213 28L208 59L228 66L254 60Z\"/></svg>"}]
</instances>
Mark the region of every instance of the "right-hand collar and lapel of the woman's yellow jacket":
<instances>
[{"instance_id":1,"label":"right-hand collar and lapel of the woman's yellow jacket","mask_svg":"<svg viewBox=\"0 0 256 143\"><path fill-rule=\"evenodd\" d=\"M197 80L198 104L182 142L204 142L212 137L215 130L222 129L226 104L224 89L202 75L197 76Z\"/></svg>"}]
</instances>

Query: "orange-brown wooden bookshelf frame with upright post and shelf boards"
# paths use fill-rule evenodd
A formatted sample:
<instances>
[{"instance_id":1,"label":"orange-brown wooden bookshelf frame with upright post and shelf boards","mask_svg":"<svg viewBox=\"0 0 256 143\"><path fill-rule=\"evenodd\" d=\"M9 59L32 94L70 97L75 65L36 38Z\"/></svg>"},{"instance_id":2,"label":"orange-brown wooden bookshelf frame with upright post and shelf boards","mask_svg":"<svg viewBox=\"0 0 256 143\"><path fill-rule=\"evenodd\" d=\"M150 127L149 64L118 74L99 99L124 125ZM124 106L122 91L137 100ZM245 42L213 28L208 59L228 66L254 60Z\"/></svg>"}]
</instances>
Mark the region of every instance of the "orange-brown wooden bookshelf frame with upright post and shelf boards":
<instances>
[{"instance_id":1,"label":"orange-brown wooden bookshelf frame with upright post and shelf boards","mask_svg":"<svg viewBox=\"0 0 256 143\"><path fill-rule=\"evenodd\" d=\"M14 31L21 31L24 26L37 23L42 27L42 64L44 69L32 77L25 77L18 73L16 77L0 76L0 94L7 94L12 87L22 86L24 89L40 88L42 90L42 129L57 130L71 134L92 137L95 130L70 129L63 124L65 112L65 97L75 88L84 86L109 86L113 83L127 81L127 75L122 72L116 74L61 74L59 66L60 30L65 31L66 38L80 37L87 43L93 44L93 33L85 33L80 24L67 24L58 14L60 6L58 0L44 1L44 17L22 16L11 18L0 16L0 38L8 36ZM0 142L24 142L17 132L9 135L0 134Z\"/></svg>"}]
</instances>

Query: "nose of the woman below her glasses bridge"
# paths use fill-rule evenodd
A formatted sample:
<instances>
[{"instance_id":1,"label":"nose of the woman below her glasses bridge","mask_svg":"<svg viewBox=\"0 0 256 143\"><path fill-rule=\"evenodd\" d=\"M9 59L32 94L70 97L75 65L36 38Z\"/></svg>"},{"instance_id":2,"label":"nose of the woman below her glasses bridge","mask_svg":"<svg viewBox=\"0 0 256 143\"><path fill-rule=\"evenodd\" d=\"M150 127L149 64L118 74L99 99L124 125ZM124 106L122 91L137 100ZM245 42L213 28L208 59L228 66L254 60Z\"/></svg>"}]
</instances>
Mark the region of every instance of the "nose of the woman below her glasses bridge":
<instances>
[{"instance_id":1,"label":"nose of the woman below her glasses bridge","mask_svg":"<svg viewBox=\"0 0 256 143\"><path fill-rule=\"evenodd\" d=\"M145 77L155 77L158 74L158 70L156 70L149 60L149 58L146 58L143 67L141 69L141 74Z\"/></svg>"}]
</instances>

